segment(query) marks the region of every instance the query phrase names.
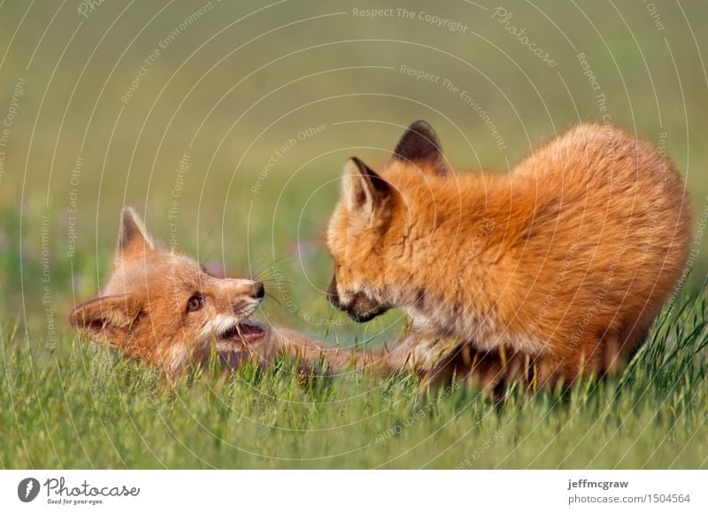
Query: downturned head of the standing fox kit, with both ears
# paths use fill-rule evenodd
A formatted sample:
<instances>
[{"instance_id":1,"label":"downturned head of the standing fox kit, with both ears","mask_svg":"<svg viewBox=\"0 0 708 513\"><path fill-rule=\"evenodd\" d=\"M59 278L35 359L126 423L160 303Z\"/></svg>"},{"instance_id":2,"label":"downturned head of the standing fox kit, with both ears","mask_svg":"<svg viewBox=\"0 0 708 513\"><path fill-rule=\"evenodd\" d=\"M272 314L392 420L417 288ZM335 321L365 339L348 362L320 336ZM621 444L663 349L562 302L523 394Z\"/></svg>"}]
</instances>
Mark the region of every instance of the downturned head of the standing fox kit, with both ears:
<instances>
[{"instance_id":1,"label":"downturned head of the standing fox kit, with both ears","mask_svg":"<svg viewBox=\"0 0 708 513\"><path fill-rule=\"evenodd\" d=\"M401 180L389 177L419 180L420 194L425 195L426 184L447 172L437 135L421 120L405 131L381 174L350 158L344 166L342 197L327 228L327 248L335 260L327 296L335 308L366 322L415 301L415 293L404 289L415 265L408 235L412 203L418 198L402 194L396 188Z\"/></svg>"}]
</instances>

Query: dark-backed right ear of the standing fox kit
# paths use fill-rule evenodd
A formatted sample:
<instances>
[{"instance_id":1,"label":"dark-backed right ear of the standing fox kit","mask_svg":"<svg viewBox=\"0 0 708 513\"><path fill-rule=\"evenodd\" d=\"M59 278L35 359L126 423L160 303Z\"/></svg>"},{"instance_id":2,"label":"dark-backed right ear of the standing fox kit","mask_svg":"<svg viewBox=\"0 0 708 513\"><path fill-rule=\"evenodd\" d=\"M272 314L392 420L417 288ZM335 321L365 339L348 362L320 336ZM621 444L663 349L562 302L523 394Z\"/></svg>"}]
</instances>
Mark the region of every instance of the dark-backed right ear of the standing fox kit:
<instances>
[{"instance_id":1,"label":"dark-backed right ear of the standing fox kit","mask_svg":"<svg viewBox=\"0 0 708 513\"><path fill-rule=\"evenodd\" d=\"M409 126L396 144L392 160L426 165L435 174L448 173L443 156L443 145L433 127L419 119Z\"/></svg>"}]
</instances>

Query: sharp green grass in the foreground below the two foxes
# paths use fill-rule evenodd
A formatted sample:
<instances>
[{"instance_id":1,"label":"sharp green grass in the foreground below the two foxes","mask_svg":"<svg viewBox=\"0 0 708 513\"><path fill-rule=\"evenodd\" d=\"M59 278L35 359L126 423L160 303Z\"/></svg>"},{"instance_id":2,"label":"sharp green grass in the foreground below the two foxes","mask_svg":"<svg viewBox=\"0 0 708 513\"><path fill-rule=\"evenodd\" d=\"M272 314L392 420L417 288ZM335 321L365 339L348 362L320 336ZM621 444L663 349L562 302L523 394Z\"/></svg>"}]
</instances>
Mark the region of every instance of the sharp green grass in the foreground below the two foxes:
<instances>
[{"instance_id":1,"label":"sharp green grass in the foreground below the two foxes","mask_svg":"<svg viewBox=\"0 0 708 513\"><path fill-rule=\"evenodd\" d=\"M155 371L64 333L35 350L4 325L5 468L705 468L706 295L682 298L627 371L491 402L355 373L298 382L287 363L171 393Z\"/></svg>"}]
</instances>

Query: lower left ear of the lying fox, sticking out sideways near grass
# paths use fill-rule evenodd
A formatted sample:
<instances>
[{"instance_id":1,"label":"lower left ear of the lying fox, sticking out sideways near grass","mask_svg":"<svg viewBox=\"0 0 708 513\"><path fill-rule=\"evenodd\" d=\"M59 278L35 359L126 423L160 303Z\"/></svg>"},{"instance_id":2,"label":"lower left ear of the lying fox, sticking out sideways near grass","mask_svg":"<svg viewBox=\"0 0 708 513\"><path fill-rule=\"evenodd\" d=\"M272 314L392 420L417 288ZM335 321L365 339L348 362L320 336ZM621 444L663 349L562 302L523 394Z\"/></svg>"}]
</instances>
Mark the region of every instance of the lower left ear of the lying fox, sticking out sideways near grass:
<instances>
[{"instance_id":1,"label":"lower left ear of the lying fox, sticking out sideways near grass","mask_svg":"<svg viewBox=\"0 0 708 513\"><path fill-rule=\"evenodd\" d=\"M142 316L135 297L109 295L82 302L69 314L73 328L92 341L119 346Z\"/></svg>"}]
</instances>

